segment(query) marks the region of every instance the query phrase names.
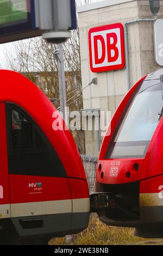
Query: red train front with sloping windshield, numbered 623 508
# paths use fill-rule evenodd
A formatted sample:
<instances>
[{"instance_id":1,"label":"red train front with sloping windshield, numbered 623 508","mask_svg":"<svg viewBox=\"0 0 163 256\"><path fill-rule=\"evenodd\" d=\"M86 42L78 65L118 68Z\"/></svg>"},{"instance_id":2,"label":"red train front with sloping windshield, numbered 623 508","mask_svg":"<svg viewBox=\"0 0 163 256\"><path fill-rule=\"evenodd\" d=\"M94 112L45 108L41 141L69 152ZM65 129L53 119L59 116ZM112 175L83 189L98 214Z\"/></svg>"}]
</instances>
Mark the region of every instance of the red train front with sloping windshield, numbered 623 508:
<instances>
[{"instance_id":1,"label":"red train front with sloping windshield, numbered 623 508","mask_svg":"<svg viewBox=\"0 0 163 256\"><path fill-rule=\"evenodd\" d=\"M99 218L163 237L163 69L143 77L112 117L99 154ZM111 131L111 132L110 132Z\"/></svg>"}]
</instances>

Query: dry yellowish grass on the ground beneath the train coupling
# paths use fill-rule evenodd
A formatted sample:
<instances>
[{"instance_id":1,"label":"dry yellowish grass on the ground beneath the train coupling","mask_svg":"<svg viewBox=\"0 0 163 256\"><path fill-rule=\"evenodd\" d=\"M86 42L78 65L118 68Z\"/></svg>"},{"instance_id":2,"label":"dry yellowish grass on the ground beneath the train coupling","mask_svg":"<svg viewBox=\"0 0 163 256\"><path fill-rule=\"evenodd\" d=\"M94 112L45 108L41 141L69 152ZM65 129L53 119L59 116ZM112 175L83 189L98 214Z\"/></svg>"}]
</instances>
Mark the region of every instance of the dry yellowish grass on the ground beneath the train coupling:
<instances>
[{"instance_id":1,"label":"dry yellowish grass on the ground beneath the train coupling","mask_svg":"<svg viewBox=\"0 0 163 256\"><path fill-rule=\"evenodd\" d=\"M49 245L65 245L65 237L54 238ZM71 245L129 245L147 239L134 236L133 228L110 227L91 216L89 227L75 236Z\"/></svg>"}]
</instances>

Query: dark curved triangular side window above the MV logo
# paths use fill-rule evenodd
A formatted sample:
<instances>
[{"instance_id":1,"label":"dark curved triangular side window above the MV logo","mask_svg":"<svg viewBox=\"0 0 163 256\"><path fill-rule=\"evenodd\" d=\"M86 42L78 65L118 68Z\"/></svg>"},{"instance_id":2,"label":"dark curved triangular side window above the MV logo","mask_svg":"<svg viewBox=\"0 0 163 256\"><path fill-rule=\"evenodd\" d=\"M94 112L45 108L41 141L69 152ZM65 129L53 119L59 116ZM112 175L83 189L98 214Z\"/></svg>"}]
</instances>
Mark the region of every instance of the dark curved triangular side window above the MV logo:
<instances>
[{"instance_id":1,"label":"dark curved triangular side window above the MV logo","mask_svg":"<svg viewBox=\"0 0 163 256\"><path fill-rule=\"evenodd\" d=\"M52 144L27 112L7 103L6 113L9 174L65 177Z\"/></svg>"}]
</instances>

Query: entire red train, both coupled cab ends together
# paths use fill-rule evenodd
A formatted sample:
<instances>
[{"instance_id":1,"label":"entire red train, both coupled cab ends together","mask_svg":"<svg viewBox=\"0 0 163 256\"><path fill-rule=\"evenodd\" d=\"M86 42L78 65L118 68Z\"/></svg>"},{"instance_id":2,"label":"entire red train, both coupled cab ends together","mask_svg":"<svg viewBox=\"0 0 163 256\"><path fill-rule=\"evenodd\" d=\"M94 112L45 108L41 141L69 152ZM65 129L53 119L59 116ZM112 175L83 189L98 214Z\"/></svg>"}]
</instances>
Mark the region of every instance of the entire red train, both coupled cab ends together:
<instances>
[{"instance_id":1,"label":"entire red train, both coupled cab ends together","mask_svg":"<svg viewBox=\"0 0 163 256\"><path fill-rule=\"evenodd\" d=\"M70 131L52 129L58 112L26 77L0 75L0 244L84 230L90 196ZM102 222L136 227L140 236L163 237L162 115L159 70L137 82L112 117L91 195Z\"/></svg>"}]
</instances>

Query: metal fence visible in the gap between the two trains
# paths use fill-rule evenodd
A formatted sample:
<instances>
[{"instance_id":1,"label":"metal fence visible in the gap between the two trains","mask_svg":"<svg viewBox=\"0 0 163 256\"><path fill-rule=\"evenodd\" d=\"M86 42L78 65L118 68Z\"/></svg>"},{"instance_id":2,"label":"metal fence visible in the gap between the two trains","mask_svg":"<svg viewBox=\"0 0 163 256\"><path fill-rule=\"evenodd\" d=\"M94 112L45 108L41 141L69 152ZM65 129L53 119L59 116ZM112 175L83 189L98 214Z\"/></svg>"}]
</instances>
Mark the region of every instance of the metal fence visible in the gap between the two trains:
<instances>
[{"instance_id":1,"label":"metal fence visible in the gap between the two trains","mask_svg":"<svg viewBox=\"0 0 163 256\"><path fill-rule=\"evenodd\" d=\"M90 193L95 192L97 157L81 155Z\"/></svg>"}]
</instances>

